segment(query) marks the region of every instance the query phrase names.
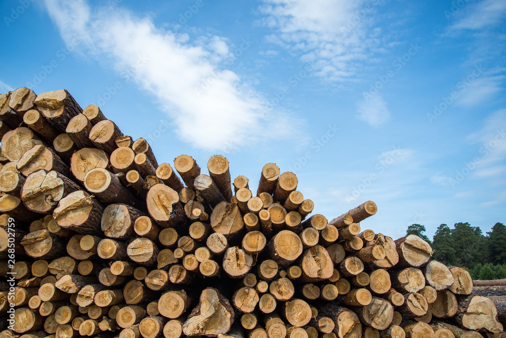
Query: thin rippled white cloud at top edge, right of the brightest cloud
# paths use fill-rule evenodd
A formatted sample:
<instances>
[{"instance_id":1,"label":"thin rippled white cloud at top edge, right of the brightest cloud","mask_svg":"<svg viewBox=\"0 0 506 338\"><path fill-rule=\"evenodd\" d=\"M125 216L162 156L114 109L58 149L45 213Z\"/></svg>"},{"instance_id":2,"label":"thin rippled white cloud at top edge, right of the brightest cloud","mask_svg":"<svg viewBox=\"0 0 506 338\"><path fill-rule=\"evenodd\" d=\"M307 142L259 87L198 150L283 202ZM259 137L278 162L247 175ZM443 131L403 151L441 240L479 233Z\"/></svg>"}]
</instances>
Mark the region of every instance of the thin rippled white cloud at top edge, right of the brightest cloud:
<instances>
[{"instance_id":1,"label":"thin rippled white cloud at top edge, right of the brightest cloud","mask_svg":"<svg viewBox=\"0 0 506 338\"><path fill-rule=\"evenodd\" d=\"M316 75L341 80L355 74L369 51L379 46L380 29L370 29L374 4L335 0L264 0L266 40L313 61Z\"/></svg>"}]
</instances>

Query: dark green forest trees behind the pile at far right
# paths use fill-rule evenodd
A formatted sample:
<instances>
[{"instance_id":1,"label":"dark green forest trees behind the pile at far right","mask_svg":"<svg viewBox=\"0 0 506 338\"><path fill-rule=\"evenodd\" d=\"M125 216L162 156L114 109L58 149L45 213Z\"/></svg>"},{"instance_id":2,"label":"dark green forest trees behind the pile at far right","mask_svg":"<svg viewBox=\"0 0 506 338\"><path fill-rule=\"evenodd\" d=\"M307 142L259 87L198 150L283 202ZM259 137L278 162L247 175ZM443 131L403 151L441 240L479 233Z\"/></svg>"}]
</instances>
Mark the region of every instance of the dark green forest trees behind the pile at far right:
<instances>
[{"instance_id":1,"label":"dark green forest trees behind the pile at far right","mask_svg":"<svg viewBox=\"0 0 506 338\"><path fill-rule=\"evenodd\" d=\"M506 227L496 223L483 235L481 229L469 223L456 223L453 228L441 224L432 241L425 226L412 224L407 234L417 235L429 242L434 250L432 259L447 266L466 268L473 279L506 278Z\"/></svg>"}]
</instances>

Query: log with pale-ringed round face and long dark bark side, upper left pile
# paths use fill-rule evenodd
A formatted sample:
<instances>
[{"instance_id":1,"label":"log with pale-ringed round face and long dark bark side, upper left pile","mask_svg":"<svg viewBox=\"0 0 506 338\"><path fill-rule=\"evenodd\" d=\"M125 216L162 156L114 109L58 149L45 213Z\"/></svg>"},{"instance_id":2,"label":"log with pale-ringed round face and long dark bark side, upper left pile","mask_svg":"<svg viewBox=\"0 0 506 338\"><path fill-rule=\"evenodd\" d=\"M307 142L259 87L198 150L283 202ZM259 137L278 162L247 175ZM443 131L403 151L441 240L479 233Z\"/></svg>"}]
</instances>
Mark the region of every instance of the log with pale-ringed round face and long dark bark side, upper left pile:
<instances>
[{"instance_id":1,"label":"log with pale-ringed round face and long dark bark side, upper left pile","mask_svg":"<svg viewBox=\"0 0 506 338\"><path fill-rule=\"evenodd\" d=\"M104 204L124 203L133 207L144 208L144 203L137 200L115 175L104 168L91 169L86 173L83 182L86 190Z\"/></svg>"}]
</instances>

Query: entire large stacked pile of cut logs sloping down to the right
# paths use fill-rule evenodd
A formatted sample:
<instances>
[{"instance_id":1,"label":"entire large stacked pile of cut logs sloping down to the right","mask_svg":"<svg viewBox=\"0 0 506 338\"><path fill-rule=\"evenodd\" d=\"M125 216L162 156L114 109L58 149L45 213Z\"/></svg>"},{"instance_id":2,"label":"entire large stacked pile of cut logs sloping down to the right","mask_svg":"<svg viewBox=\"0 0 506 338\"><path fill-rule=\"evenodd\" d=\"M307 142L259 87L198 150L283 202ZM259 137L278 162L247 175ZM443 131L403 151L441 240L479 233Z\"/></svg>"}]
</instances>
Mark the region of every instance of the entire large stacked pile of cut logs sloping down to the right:
<instances>
[{"instance_id":1,"label":"entire large stacked pile of cut logs sloping down to the right","mask_svg":"<svg viewBox=\"0 0 506 338\"><path fill-rule=\"evenodd\" d=\"M372 201L328 221L274 163L256 192L221 155L206 173L189 155L158 163L65 90L0 95L0 132L0 275L16 281L2 338L502 332L505 301L473 294L466 270L362 229Z\"/></svg>"}]
</instances>

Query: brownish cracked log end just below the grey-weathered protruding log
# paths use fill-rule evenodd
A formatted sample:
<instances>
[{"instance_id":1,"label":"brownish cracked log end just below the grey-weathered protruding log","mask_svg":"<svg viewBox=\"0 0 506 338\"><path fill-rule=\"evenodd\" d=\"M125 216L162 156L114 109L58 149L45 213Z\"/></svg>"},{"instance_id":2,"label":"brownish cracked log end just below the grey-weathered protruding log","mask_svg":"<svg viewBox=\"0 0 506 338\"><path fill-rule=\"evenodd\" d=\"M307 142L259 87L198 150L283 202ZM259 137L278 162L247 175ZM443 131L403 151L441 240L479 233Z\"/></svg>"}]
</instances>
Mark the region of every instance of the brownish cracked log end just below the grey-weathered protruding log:
<instances>
[{"instance_id":1,"label":"brownish cracked log end just below the grey-weathered protruding log","mask_svg":"<svg viewBox=\"0 0 506 338\"><path fill-rule=\"evenodd\" d=\"M220 202L214 207L210 223L215 232L227 238L234 237L244 227L244 221L237 204L226 201Z\"/></svg>"}]
</instances>

